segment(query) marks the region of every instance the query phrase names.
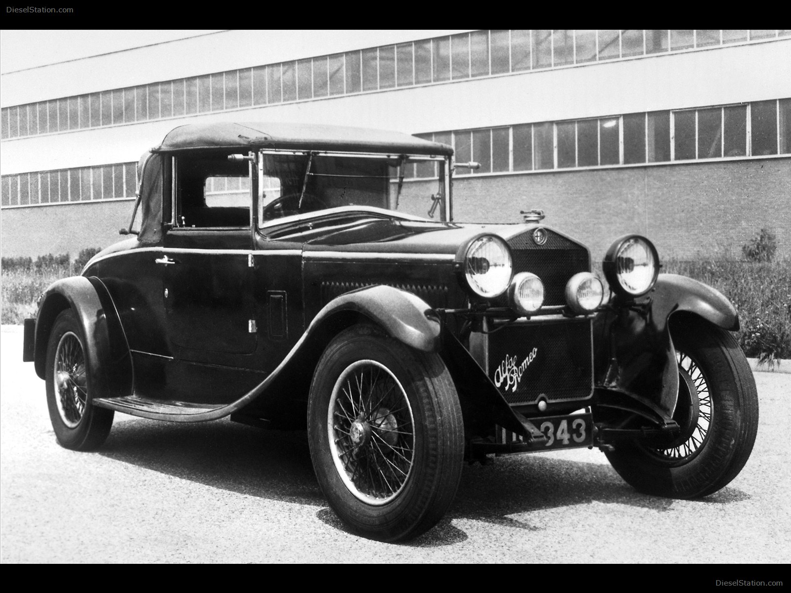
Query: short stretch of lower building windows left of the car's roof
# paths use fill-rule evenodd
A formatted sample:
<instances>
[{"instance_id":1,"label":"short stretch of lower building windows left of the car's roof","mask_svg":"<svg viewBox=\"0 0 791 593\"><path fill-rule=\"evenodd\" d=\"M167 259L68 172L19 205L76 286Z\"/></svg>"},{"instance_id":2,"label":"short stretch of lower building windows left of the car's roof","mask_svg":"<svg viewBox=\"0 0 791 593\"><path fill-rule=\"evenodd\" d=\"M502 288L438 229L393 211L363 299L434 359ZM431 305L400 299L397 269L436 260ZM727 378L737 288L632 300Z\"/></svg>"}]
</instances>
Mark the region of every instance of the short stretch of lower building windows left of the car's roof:
<instances>
[{"instance_id":1,"label":"short stretch of lower building windows left of the car's roof","mask_svg":"<svg viewBox=\"0 0 791 593\"><path fill-rule=\"evenodd\" d=\"M134 198L136 163L2 176L2 206Z\"/></svg>"}]
</instances>

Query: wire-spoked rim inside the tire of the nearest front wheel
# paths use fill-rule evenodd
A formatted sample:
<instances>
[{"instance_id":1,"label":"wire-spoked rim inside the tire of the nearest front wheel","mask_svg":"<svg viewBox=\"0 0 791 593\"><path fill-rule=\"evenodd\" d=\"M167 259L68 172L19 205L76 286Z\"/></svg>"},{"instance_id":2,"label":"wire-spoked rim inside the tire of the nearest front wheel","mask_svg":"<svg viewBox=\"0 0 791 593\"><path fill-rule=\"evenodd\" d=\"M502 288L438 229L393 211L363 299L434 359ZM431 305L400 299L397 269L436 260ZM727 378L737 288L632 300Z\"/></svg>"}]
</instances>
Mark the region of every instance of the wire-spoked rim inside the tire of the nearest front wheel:
<instances>
[{"instance_id":1,"label":"wire-spoked rim inside the tire of the nearest front wheel","mask_svg":"<svg viewBox=\"0 0 791 593\"><path fill-rule=\"evenodd\" d=\"M414 417L401 383L376 361L350 364L330 398L327 436L335 466L355 497L386 504L414 459Z\"/></svg>"}]
</instances>

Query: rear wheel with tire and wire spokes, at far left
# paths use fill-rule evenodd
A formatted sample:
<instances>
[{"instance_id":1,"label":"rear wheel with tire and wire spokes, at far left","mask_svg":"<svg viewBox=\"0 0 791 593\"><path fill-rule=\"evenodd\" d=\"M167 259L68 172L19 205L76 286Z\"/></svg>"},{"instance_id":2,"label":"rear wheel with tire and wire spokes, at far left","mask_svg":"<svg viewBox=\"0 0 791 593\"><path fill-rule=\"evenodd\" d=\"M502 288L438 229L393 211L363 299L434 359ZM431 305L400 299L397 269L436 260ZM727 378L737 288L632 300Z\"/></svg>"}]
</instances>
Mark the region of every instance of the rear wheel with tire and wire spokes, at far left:
<instances>
[{"instance_id":1,"label":"rear wheel with tire and wire spokes, at far left","mask_svg":"<svg viewBox=\"0 0 791 593\"><path fill-rule=\"evenodd\" d=\"M71 309L62 311L47 342L47 407L59 444L91 451L107 439L112 410L93 406L91 373L87 372L85 338Z\"/></svg>"}]
</instances>

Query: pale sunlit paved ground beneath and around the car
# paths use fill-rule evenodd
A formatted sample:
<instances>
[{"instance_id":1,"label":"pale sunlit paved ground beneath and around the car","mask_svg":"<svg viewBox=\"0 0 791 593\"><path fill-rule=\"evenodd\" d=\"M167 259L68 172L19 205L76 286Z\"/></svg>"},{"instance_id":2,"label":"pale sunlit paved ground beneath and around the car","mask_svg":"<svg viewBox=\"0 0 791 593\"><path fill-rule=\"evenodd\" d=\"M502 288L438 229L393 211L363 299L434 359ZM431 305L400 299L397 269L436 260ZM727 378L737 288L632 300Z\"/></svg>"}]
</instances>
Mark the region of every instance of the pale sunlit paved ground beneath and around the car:
<instances>
[{"instance_id":1,"label":"pale sunlit paved ground beneath and around the car","mask_svg":"<svg viewBox=\"0 0 791 593\"><path fill-rule=\"evenodd\" d=\"M3 327L2 536L9 562L679 562L791 559L791 374L756 373L758 440L705 500L636 493L597 450L467 466L448 515L407 545L344 531L304 432L115 414L104 447L55 442L44 382Z\"/></svg>"}]
</instances>

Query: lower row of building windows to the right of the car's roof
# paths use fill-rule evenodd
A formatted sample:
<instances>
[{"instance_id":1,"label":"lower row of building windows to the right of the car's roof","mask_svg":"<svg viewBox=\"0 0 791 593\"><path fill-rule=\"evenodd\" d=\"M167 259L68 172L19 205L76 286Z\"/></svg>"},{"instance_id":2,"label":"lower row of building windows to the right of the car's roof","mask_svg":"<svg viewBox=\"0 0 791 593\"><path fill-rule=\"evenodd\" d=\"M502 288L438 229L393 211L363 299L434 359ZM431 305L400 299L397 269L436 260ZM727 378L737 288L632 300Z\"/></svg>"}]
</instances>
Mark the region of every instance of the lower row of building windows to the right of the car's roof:
<instances>
[{"instance_id":1,"label":"lower row of building windows to the right of the car's roof","mask_svg":"<svg viewBox=\"0 0 791 593\"><path fill-rule=\"evenodd\" d=\"M791 99L417 134L450 144L457 175L791 154ZM409 177L436 176L433 163Z\"/></svg>"}]
</instances>

